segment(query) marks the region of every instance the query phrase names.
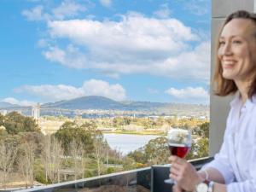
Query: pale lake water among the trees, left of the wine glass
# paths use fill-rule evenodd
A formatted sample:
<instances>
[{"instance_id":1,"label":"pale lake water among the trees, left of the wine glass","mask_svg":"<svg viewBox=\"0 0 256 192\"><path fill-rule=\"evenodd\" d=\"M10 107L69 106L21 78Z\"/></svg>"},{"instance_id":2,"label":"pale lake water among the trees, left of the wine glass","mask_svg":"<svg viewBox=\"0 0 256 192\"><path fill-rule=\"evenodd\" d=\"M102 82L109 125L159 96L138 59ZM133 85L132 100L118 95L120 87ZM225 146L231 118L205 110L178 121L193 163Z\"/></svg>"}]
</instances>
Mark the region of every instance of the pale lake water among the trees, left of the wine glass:
<instances>
[{"instance_id":1,"label":"pale lake water among the trees, left of the wine glass","mask_svg":"<svg viewBox=\"0 0 256 192\"><path fill-rule=\"evenodd\" d=\"M160 137L153 135L129 135L116 133L104 133L103 135L111 148L117 149L123 154L128 154L137 148L143 147L149 142L149 140Z\"/></svg>"}]
</instances>

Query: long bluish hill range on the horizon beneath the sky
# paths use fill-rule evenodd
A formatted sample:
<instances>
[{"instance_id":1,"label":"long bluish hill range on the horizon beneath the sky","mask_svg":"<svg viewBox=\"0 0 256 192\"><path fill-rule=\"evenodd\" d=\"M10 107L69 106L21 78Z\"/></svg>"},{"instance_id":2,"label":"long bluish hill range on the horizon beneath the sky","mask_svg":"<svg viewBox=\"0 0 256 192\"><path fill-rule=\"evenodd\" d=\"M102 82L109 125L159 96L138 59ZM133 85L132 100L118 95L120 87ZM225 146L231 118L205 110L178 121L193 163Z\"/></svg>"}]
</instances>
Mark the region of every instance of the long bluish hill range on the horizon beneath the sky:
<instances>
[{"instance_id":1,"label":"long bluish hill range on the horizon beneath the sky","mask_svg":"<svg viewBox=\"0 0 256 192\"><path fill-rule=\"evenodd\" d=\"M22 107L8 102L0 102L0 109L20 110L31 113L32 107ZM76 110L117 110L140 111L147 113L208 113L209 106L198 104L164 103L164 102L117 102L103 96L83 96L60 102L49 102L41 105L41 113L55 115L73 113ZM57 114L56 114L57 115Z\"/></svg>"}]
</instances>

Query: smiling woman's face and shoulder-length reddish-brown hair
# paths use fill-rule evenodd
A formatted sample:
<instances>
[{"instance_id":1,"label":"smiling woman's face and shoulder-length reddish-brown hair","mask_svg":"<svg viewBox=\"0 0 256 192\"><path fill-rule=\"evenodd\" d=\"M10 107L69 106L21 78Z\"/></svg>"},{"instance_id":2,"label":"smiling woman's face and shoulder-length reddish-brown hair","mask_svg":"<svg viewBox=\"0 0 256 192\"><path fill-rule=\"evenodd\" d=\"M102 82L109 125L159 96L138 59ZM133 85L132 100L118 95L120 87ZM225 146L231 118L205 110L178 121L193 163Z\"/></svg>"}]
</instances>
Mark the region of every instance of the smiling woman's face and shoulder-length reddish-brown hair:
<instances>
[{"instance_id":1,"label":"smiling woman's face and shoulder-length reddish-brown hair","mask_svg":"<svg viewBox=\"0 0 256 192\"><path fill-rule=\"evenodd\" d=\"M218 96L235 93L237 84L251 86L249 96L253 96L256 82L256 25L253 20L237 18L230 20L221 32L218 45L218 60L215 71ZM236 80L236 84L235 81ZM221 84L221 85L220 85Z\"/></svg>"}]
</instances>

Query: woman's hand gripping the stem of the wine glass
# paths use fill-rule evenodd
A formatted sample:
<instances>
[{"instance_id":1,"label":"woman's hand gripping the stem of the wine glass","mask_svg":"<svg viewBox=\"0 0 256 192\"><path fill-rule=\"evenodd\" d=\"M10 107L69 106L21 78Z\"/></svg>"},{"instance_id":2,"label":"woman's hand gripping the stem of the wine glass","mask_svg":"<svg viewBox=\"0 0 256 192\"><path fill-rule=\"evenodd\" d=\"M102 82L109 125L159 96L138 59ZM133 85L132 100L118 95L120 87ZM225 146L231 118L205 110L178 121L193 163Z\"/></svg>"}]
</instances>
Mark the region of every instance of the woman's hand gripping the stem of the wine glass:
<instances>
[{"instance_id":1,"label":"woman's hand gripping the stem of the wine glass","mask_svg":"<svg viewBox=\"0 0 256 192\"><path fill-rule=\"evenodd\" d=\"M177 187L186 191L194 191L195 186L201 183L201 177L197 174L195 167L187 160L174 155L172 155L169 160L172 164L170 177L177 182ZM179 190L177 189L177 191Z\"/></svg>"}]
</instances>

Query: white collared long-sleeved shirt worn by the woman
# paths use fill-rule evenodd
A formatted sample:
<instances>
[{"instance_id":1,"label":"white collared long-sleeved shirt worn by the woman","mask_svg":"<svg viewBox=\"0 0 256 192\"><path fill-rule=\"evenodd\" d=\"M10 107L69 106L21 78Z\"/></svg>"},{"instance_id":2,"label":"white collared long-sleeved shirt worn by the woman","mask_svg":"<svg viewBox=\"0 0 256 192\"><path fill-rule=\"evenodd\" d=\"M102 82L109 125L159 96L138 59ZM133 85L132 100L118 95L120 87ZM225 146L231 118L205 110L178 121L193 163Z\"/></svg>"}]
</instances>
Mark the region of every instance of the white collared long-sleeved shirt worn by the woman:
<instances>
[{"instance_id":1,"label":"white collared long-sleeved shirt worn by the woman","mask_svg":"<svg viewBox=\"0 0 256 192\"><path fill-rule=\"evenodd\" d=\"M221 172L228 192L256 192L256 96L244 105L236 96L230 106L224 143L204 168Z\"/></svg>"}]
</instances>

